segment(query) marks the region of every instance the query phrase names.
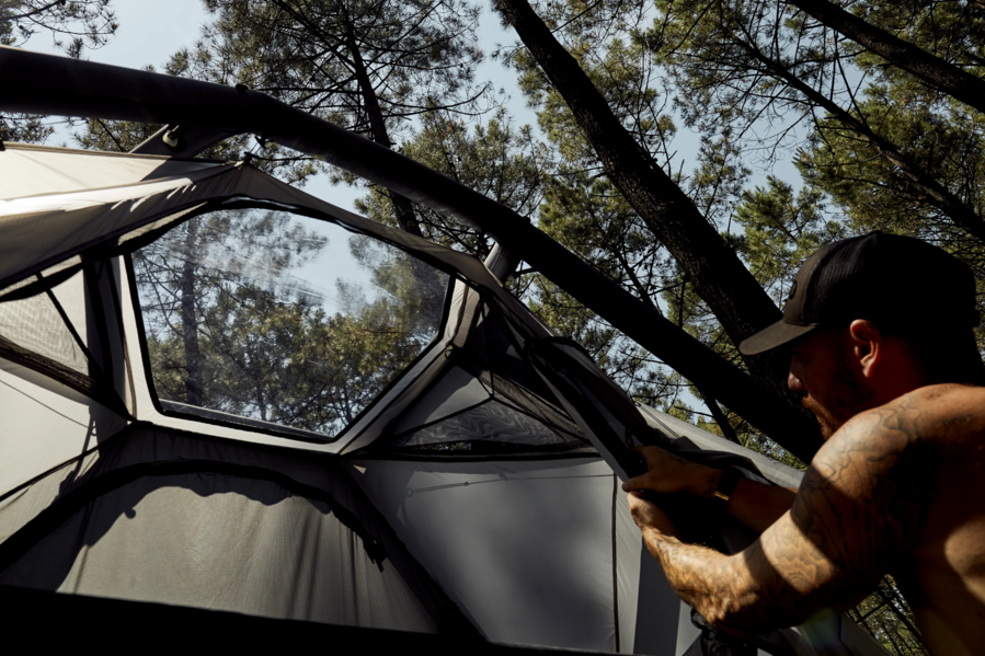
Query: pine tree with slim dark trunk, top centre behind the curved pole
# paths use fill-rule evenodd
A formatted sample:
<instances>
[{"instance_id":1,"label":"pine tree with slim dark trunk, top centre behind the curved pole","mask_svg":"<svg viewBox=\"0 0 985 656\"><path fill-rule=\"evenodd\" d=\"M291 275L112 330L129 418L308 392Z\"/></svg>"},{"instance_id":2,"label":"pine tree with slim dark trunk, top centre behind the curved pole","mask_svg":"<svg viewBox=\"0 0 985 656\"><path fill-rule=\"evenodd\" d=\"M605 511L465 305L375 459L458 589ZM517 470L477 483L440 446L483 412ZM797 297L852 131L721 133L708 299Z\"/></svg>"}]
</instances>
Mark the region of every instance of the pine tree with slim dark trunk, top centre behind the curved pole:
<instances>
[{"instance_id":1,"label":"pine tree with slim dark trunk, top centre behind the curved pole","mask_svg":"<svg viewBox=\"0 0 985 656\"><path fill-rule=\"evenodd\" d=\"M195 77L237 82L392 147L415 117L481 112L478 9L433 0L206 0L214 21L183 53ZM345 173L337 179L354 182ZM406 198L401 229L420 235Z\"/></svg>"}]
</instances>

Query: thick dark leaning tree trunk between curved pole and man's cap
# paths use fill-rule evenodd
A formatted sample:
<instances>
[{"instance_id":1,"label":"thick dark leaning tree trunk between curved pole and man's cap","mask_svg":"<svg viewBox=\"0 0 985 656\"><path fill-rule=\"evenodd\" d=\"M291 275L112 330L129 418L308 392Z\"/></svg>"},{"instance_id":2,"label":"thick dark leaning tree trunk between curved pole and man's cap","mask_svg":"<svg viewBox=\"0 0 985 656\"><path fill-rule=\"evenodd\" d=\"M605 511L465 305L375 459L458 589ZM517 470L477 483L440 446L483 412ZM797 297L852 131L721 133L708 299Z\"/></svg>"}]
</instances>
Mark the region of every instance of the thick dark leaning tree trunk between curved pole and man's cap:
<instances>
[{"instance_id":1,"label":"thick dark leaning tree trunk between curved pole and man's cap","mask_svg":"<svg viewBox=\"0 0 985 656\"><path fill-rule=\"evenodd\" d=\"M671 252L733 343L778 321L780 310L753 274L622 127L579 62L526 0L496 0L495 7L564 97L606 174ZM782 354L746 356L745 361L754 376L799 406L787 389L789 361Z\"/></svg>"}]
</instances>

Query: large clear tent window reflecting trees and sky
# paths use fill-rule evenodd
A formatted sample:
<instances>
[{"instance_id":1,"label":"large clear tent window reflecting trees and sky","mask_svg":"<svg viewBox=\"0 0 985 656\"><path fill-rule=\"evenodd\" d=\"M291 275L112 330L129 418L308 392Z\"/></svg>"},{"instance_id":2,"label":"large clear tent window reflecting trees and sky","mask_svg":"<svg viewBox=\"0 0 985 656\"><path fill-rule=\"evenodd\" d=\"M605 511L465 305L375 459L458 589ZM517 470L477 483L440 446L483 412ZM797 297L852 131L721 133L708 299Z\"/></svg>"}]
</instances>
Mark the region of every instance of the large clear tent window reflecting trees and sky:
<instances>
[{"instance_id":1,"label":"large clear tent window reflecting trees and sky","mask_svg":"<svg viewBox=\"0 0 985 656\"><path fill-rule=\"evenodd\" d=\"M167 408L325 437L424 350L448 285L400 249L270 208L193 218L133 261Z\"/></svg>"}]
</instances>

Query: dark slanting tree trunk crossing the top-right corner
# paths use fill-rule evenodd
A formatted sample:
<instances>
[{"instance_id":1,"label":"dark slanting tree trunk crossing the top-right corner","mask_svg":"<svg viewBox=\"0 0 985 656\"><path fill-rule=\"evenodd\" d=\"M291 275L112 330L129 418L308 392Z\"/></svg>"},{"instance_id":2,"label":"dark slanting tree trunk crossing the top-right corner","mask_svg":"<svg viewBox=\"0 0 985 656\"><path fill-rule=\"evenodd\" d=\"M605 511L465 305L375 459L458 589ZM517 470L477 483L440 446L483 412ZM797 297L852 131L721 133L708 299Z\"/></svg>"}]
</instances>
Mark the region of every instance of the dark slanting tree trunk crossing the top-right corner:
<instances>
[{"instance_id":1,"label":"dark slanting tree trunk crossing the top-right corner","mask_svg":"<svg viewBox=\"0 0 985 656\"><path fill-rule=\"evenodd\" d=\"M985 113L985 80L952 66L923 48L871 25L827 0L789 0L805 14L821 21L886 61L919 78L924 83Z\"/></svg>"}]
</instances>

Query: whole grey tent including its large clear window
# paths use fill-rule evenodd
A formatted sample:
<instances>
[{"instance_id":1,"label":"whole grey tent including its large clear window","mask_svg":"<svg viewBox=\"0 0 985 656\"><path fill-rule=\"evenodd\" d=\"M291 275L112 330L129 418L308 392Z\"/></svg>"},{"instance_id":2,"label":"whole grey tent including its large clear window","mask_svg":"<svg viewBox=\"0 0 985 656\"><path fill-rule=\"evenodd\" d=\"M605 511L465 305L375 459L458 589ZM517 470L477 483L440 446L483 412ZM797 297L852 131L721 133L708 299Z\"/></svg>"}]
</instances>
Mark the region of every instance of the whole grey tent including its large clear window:
<instances>
[{"instance_id":1,"label":"whole grey tent including its large clear window","mask_svg":"<svg viewBox=\"0 0 985 656\"><path fill-rule=\"evenodd\" d=\"M303 274L319 249L334 288ZM248 163L4 145L5 598L683 654L625 447L800 474L634 406L496 271ZM758 646L818 645L880 653L834 615Z\"/></svg>"}]
</instances>

